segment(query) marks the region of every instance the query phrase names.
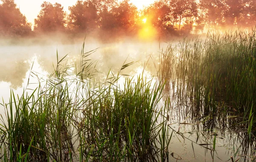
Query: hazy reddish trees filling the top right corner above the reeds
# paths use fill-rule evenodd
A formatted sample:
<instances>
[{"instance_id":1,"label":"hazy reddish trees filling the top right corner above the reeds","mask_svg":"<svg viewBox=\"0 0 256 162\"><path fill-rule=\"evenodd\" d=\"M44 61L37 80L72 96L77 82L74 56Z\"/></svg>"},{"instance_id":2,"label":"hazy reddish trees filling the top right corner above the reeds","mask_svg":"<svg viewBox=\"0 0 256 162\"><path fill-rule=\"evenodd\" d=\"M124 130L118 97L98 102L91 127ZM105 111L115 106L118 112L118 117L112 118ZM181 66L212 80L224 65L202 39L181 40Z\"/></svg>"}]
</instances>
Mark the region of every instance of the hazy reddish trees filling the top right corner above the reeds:
<instances>
[{"instance_id":1,"label":"hazy reddish trees filling the top right corner above the reeds","mask_svg":"<svg viewBox=\"0 0 256 162\"><path fill-rule=\"evenodd\" d=\"M256 25L256 0L200 0L197 28L209 29Z\"/></svg>"}]
</instances>

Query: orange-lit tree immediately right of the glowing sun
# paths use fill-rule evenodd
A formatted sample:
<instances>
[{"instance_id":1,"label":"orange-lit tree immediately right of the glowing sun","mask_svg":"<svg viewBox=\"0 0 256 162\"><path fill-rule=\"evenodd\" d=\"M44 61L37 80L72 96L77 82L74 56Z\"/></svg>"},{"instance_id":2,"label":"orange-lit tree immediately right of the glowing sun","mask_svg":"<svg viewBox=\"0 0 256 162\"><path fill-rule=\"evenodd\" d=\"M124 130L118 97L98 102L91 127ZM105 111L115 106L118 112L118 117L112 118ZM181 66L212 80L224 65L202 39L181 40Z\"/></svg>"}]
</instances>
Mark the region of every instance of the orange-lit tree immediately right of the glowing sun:
<instances>
[{"instance_id":1,"label":"orange-lit tree immediately right of the glowing sun","mask_svg":"<svg viewBox=\"0 0 256 162\"><path fill-rule=\"evenodd\" d=\"M144 11L150 17L159 35L176 34L176 28L189 33L198 16L198 4L195 0L159 0Z\"/></svg>"}]
</instances>

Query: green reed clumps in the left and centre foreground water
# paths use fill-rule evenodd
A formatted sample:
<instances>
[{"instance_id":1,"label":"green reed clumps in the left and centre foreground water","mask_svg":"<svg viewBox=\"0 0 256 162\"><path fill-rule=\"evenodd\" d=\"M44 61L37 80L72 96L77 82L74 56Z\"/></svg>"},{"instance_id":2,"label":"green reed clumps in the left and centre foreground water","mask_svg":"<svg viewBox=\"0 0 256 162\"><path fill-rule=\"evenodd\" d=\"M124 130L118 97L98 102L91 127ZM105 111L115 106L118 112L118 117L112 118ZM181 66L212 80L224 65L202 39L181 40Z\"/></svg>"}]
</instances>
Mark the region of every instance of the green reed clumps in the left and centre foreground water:
<instances>
[{"instance_id":1,"label":"green reed clumps in the left and centre foreground water","mask_svg":"<svg viewBox=\"0 0 256 162\"><path fill-rule=\"evenodd\" d=\"M166 127L160 114L163 85L142 74L127 77L121 88L119 73L133 63L95 81L94 64L87 59L93 52L82 49L77 69L57 51L57 66L47 81L32 93L11 91L2 104L2 161L158 161L169 144L159 142L167 135L161 132Z\"/></svg>"}]
</instances>

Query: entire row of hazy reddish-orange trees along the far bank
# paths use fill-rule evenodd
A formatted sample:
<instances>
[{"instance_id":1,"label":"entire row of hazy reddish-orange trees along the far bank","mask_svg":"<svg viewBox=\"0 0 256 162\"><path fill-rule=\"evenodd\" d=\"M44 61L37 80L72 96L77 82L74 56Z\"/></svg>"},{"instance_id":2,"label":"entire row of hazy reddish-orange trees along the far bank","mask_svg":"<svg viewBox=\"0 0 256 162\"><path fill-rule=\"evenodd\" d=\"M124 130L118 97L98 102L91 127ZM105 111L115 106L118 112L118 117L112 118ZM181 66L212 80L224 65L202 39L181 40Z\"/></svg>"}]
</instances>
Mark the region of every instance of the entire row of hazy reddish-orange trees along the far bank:
<instances>
[{"instance_id":1,"label":"entire row of hazy reddish-orange trees along the far bank","mask_svg":"<svg viewBox=\"0 0 256 162\"><path fill-rule=\"evenodd\" d=\"M0 1L0 35L64 32L132 36L147 25L157 36L168 36L256 24L256 0L157 0L142 10L129 0L78 0L69 6L69 14L59 3L44 2L32 30L14 0ZM143 23L145 18L147 23Z\"/></svg>"}]
</instances>

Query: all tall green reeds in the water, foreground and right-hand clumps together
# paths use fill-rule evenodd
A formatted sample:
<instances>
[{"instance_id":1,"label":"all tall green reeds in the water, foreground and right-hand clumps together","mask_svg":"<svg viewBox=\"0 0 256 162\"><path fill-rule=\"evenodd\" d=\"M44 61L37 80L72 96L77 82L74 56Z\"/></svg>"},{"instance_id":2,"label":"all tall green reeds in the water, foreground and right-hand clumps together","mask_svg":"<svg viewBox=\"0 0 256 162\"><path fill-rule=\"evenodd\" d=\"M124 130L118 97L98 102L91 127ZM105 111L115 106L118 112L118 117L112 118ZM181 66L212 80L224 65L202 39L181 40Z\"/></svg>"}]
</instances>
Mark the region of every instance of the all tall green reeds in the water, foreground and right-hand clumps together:
<instances>
[{"instance_id":1,"label":"all tall green reeds in the water, foreground and right-hand clumps together","mask_svg":"<svg viewBox=\"0 0 256 162\"><path fill-rule=\"evenodd\" d=\"M131 62L96 81L98 71L88 59L95 50L84 52L83 44L75 67L57 51L57 64L46 81L40 80L35 90L24 89L20 96L11 91L9 102L3 101L1 160L168 161L176 157L169 148L175 133L169 130L169 111L174 108L185 119L181 124L189 124L184 122L191 117L209 132L217 119L233 125L234 131L238 125L244 127L245 133L238 134L246 137L243 153L249 154L256 122L255 34L208 34L204 41L184 39L169 45L161 52L157 77L151 79L121 75ZM198 144L198 139L190 142Z\"/></svg>"}]
</instances>

